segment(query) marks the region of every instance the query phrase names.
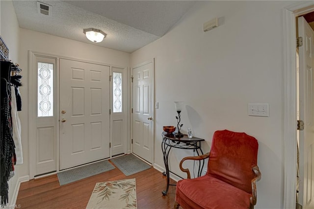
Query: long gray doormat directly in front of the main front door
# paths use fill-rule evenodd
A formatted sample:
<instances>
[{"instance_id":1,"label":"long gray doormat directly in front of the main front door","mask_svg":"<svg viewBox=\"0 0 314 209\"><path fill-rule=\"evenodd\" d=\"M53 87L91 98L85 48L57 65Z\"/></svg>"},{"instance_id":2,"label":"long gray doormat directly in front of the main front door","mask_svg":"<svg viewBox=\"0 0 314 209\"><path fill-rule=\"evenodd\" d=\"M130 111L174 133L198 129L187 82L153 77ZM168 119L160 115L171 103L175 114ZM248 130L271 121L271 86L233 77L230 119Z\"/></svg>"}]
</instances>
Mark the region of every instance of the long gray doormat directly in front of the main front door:
<instances>
[{"instance_id":1,"label":"long gray doormat directly in front of the main front door","mask_svg":"<svg viewBox=\"0 0 314 209\"><path fill-rule=\"evenodd\" d=\"M108 162L108 160L103 160L95 162L88 165L83 165L81 167L73 168L66 171L58 172L58 179L60 186L76 182L87 177L95 176L97 174L104 173L106 171L113 170L114 166Z\"/></svg>"}]
</instances>

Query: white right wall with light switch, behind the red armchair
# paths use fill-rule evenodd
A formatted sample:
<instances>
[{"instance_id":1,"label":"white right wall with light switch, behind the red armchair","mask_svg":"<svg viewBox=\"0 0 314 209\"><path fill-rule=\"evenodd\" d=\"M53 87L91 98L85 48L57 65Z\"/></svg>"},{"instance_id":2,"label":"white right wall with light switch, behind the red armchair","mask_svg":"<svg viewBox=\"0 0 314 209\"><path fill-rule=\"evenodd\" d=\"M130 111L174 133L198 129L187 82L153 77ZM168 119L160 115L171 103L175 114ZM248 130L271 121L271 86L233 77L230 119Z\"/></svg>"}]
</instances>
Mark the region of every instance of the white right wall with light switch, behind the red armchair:
<instances>
[{"instance_id":1,"label":"white right wall with light switch, behind the red armchair","mask_svg":"<svg viewBox=\"0 0 314 209\"><path fill-rule=\"evenodd\" d=\"M164 167L162 126L176 125L174 101L184 101L183 131L206 139L214 131L246 132L259 141L262 180L256 208L283 208L283 9L294 1L198 2L162 38L131 53L131 67L156 58L155 165ZM220 26L203 32L218 17ZM248 116L248 103L268 103L269 117ZM171 169L187 152L173 150ZM191 153L193 155L193 153Z\"/></svg>"}]
</instances>

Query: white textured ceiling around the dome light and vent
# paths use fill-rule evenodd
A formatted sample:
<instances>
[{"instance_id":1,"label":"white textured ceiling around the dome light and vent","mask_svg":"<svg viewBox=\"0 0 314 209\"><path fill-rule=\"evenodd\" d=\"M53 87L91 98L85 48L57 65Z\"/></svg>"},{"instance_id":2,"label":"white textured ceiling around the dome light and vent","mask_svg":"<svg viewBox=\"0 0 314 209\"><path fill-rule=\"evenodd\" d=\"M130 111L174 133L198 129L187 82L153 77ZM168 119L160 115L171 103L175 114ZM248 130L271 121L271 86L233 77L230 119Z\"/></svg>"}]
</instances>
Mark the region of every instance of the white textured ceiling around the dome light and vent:
<instances>
[{"instance_id":1,"label":"white textured ceiling around the dome light and vent","mask_svg":"<svg viewBox=\"0 0 314 209\"><path fill-rule=\"evenodd\" d=\"M20 27L123 52L157 40L173 27L196 1L189 0L40 0L51 15L38 13L37 1L13 0ZM103 30L101 43L90 42L83 28Z\"/></svg>"}]
</instances>

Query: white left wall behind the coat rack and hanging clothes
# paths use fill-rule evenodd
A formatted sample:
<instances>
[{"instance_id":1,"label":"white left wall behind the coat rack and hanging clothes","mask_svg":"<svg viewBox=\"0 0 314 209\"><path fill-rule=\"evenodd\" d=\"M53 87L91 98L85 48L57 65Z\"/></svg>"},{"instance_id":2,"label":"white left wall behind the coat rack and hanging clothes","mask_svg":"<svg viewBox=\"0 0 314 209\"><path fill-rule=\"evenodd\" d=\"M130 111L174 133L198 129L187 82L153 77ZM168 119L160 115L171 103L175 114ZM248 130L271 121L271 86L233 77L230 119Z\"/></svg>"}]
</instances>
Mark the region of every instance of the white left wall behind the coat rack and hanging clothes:
<instances>
[{"instance_id":1,"label":"white left wall behind the coat rack and hanging clothes","mask_svg":"<svg viewBox=\"0 0 314 209\"><path fill-rule=\"evenodd\" d=\"M20 28L15 15L12 1L0 1L0 35L9 48L9 59L19 63ZM20 114L20 112L18 113ZM15 166L15 176L9 181L9 205L13 204L14 190L17 189L19 178L22 177L21 165Z\"/></svg>"}]
</instances>

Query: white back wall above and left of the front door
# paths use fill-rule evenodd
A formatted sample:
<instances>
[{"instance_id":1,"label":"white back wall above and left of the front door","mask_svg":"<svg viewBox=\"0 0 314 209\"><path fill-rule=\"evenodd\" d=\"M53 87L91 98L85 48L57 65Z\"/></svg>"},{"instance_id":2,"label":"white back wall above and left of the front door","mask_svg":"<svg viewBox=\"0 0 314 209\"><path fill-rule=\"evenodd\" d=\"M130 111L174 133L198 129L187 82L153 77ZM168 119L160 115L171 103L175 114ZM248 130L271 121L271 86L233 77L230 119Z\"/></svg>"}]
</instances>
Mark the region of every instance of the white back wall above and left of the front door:
<instances>
[{"instance_id":1,"label":"white back wall above and left of the front door","mask_svg":"<svg viewBox=\"0 0 314 209\"><path fill-rule=\"evenodd\" d=\"M58 56L71 57L76 59L101 62L121 67L130 66L130 53L98 47L92 44L61 38L57 36L39 33L32 30L20 28L20 67L23 69L22 113L20 115L22 131L22 144L24 154L23 175L29 174L29 152L28 152L28 108L29 105L36 105L35 101L29 101L28 95L28 51L43 52ZM30 103L29 103L30 102ZM28 105L29 104L29 105Z\"/></svg>"}]
</instances>

